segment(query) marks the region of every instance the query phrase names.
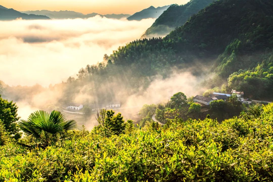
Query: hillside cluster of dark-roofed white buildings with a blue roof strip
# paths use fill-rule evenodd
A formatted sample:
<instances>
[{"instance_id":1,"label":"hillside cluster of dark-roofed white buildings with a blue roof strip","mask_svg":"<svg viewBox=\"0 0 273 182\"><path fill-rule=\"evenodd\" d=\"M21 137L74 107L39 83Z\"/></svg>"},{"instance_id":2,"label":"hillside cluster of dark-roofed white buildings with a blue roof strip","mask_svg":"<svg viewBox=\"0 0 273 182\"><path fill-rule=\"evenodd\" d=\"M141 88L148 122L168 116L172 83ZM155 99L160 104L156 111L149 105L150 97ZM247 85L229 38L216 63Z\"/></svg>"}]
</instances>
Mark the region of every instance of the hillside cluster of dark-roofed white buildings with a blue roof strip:
<instances>
[{"instance_id":1,"label":"hillside cluster of dark-roofed white buildings with a blue roof strip","mask_svg":"<svg viewBox=\"0 0 273 182\"><path fill-rule=\"evenodd\" d=\"M238 100L240 102L244 102L244 92L243 91L232 90L231 94L236 94L236 96L238 97ZM212 94L210 94L209 97L203 97L203 96L197 95L193 98L193 101L202 103L204 105L209 105L210 102L212 102L214 100L227 100L227 98L230 97L231 94L213 92Z\"/></svg>"}]
</instances>

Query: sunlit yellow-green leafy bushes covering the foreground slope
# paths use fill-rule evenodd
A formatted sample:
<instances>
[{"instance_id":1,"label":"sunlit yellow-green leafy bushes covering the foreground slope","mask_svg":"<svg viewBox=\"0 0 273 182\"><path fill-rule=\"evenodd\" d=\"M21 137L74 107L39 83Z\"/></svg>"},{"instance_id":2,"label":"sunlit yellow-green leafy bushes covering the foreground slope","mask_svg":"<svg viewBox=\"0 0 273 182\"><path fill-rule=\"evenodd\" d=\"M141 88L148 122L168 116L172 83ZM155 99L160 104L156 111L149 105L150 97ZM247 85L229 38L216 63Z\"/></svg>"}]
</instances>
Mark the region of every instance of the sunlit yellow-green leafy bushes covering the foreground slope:
<instances>
[{"instance_id":1,"label":"sunlit yellow-green leafy bushes covering the foreground slope","mask_svg":"<svg viewBox=\"0 0 273 182\"><path fill-rule=\"evenodd\" d=\"M273 104L257 111L109 138L75 131L46 149L4 145L0 181L271 181Z\"/></svg>"}]
</instances>

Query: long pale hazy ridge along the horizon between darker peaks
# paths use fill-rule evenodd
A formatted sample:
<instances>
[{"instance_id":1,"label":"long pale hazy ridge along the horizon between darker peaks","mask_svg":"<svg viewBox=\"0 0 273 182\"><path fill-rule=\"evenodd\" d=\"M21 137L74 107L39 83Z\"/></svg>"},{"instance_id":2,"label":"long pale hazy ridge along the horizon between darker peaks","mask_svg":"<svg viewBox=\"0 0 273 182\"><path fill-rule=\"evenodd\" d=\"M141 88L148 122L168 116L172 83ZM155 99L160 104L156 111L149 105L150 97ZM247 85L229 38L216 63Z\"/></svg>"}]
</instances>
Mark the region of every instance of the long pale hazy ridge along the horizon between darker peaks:
<instances>
[{"instance_id":1,"label":"long pale hazy ridge along the horizon between darker peaks","mask_svg":"<svg viewBox=\"0 0 273 182\"><path fill-rule=\"evenodd\" d=\"M98 14L98 13L90 13L90 14L82 14L75 11L49 11L49 10L36 10L36 11L21 11L21 13L26 14L38 14L38 15L44 15L48 16L51 19L75 19L75 18L90 18L94 16L101 16L106 18L112 18L112 19L122 19L127 18L130 16L130 14Z\"/></svg>"}]
</instances>

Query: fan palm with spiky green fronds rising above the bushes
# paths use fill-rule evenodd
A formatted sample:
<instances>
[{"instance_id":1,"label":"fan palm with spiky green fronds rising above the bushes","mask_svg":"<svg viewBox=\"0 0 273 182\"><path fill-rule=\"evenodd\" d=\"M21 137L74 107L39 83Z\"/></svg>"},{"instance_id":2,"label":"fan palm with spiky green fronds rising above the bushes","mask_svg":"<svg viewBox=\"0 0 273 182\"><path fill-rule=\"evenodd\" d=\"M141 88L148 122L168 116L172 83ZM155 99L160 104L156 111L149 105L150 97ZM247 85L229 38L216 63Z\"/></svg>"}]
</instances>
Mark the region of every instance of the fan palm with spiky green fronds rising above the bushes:
<instances>
[{"instance_id":1,"label":"fan palm with spiky green fronds rising above the bushes","mask_svg":"<svg viewBox=\"0 0 273 182\"><path fill-rule=\"evenodd\" d=\"M43 146L53 145L68 136L68 130L76 129L75 120L66 120L60 111L35 111L27 120L18 122L20 129Z\"/></svg>"}]
</instances>

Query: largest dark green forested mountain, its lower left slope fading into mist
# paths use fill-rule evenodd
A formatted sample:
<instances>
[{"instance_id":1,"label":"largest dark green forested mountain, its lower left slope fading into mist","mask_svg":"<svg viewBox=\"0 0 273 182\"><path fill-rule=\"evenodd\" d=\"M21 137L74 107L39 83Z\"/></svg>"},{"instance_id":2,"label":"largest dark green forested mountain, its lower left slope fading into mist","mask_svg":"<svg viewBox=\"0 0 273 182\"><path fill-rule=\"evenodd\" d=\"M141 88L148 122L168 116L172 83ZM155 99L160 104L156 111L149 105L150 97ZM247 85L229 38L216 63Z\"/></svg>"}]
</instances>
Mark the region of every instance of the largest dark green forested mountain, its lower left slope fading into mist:
<instances>
[{"instance_id":1,"label":"largest dark green forested mountain, its lower left slope fading into mist","mask_svg":"<svg viewBox=\"0 0 273 182\"><path fill-rule=\"evenodd\" d=\"M202 87L221 87L224 83L221 88L223 92L230 92L230 88L244 88L246 97L272 98L272 14L273 2L270 0L216 1L191 16L185 25L165 38L135 40L114 51L106 66L87 65L82 68L78 74L80 82L69 79L71 87L67 89L67 98L87 83L93 85L87 92L102 100L107 100L108 96L118 97L120 90L133 94L139 88L145 90L155 75L168 77L173 67L194 67L191 69L194 74L202 74L204 64L215 76L203 83ZM266 65L262 64L265 68L259 69L259 74L254 73L262 62L266 62ZM239 71L241 69L244 71ZM252 76L241 81L231 79L243 73ZM120 82L110 81L113 79ZM263 80L259 94L255 89L242 86L247 84L255 88L259 79ZM109 86L108 82L112 85ZM113 88L114 96L108 89L97 92L104 87Z\"/></svg>"}]
</instances>

